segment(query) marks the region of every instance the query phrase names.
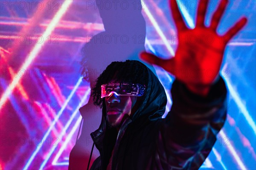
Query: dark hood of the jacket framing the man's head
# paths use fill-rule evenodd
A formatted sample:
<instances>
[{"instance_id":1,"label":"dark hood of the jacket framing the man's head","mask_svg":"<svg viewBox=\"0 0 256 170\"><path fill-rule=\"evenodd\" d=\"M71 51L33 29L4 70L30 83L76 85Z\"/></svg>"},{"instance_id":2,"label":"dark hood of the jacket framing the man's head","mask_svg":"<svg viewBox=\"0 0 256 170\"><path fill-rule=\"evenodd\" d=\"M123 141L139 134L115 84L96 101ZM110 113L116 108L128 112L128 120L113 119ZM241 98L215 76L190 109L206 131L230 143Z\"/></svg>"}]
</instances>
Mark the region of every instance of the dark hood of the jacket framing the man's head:
<instances>
[{"instance_id":1,"label":"dark hood of the jacket framing the man's head","mask_svg":"<svg viewBox=\"0 0 256 170\"><path fill-rule=\"evenodd\" d=\"M143 64L143 63L142 63ZM143 64L144 65L144 64ZM153 121L156 119L161 119L167 103L167 97L163 85L160 83L159 79L155 74L147 67L148 70L148 85L144 100L137 111L133 114L130 119L132 121L139 119L140 117L148 118ZM105 102L102 103L102 121L99 129L93 132L91 135L93 138L97 138L102 133L105 132L107 123L106 118L106 105Z\"/></svg>"}]
</instances>

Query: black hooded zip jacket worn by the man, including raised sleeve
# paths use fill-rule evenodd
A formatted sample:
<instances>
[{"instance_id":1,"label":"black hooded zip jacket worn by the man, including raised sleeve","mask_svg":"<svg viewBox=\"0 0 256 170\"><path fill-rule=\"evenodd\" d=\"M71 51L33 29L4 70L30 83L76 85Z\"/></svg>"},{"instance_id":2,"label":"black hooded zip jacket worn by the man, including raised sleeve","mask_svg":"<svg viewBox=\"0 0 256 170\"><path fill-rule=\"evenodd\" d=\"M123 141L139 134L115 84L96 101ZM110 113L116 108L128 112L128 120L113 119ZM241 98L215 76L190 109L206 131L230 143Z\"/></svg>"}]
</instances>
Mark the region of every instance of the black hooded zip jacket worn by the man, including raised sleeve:
<instances>
[{"instance_id":1,"label":"black hooded zip jacket worn by the man, including raised sleeve","mask_svg":"<svg viewBox=\"0 0 256 170\"><path fill-rule=\"evenodd\" d=\"M134 116L119 130L107 126L106 107L102 122L91 133L100 156L91 170L105 170L113 152L112 170L197 170L210 153L226 118L227 90L222 78L212 85L207 97L192 94L175 80L173 104L166 119L166 94L157 77L148 69L145 100Z\"/></svg>"}]
</instances>

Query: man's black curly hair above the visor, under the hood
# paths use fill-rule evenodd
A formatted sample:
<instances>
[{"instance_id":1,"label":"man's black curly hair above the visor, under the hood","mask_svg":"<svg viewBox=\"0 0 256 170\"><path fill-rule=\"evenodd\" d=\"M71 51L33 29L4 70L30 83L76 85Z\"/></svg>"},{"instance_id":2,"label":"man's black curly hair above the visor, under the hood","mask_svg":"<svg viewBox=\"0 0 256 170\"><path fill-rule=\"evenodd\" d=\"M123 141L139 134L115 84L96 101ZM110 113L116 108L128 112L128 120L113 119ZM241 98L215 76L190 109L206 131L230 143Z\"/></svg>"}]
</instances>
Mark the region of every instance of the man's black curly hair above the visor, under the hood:
<instances>
[{"instance_id":1,"label":"man's black curly hair above the visor, under the hood","mask_svg":"<svg viewBox=\"0 0 256 170\"><path fill-rule=\"evenodd\" d=\"M148 70L143 63L137 60L111 62L98 79L96 79L96 84L92 89L91 96L93 96L94 105L102 108L101 85L107 84L113 79L119 80L120 82L139 83L147 86Z\"/></svg>"}]
</instances>

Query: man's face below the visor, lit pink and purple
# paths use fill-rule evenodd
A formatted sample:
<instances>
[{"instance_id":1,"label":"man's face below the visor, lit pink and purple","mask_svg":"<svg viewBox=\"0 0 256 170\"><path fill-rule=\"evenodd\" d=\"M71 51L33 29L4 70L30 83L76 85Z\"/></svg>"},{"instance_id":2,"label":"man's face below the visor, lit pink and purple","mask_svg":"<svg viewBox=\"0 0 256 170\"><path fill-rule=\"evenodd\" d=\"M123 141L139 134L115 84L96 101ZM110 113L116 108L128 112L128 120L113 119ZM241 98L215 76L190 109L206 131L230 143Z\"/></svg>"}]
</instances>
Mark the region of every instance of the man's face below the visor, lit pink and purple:
<instances>
[{"instance_id":1,"label":"man's face below the visor, lit pink and purple","mask_svg":"<svg viewBox=\"0 0 256 170\"><path fill-rule=\"evenodd\" d=\"M125 115L133 114L131 109L136 101L137 96L117 96L114 93L106 96L105 105L109 125L116 128L120 127Z\"/></svg>"}]
</instances>

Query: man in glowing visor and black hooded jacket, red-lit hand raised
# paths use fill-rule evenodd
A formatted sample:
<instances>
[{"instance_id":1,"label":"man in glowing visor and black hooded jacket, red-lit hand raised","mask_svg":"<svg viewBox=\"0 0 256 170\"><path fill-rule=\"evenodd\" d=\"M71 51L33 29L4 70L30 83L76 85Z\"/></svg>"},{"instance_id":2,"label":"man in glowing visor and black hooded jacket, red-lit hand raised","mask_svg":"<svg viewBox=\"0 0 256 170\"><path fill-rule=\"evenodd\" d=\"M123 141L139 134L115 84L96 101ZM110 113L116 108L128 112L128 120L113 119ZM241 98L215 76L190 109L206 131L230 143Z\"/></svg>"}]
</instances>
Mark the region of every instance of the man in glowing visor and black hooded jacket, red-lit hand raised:
<instances>
[{"instance_id":1,"label":"man in glowing visor and black hooded jacket, red-lit hand raised","mask_svg":"<svg viewBox=\"0 0 256 170\"><path fill-rule=\"evenodd\" d=\"M94 104L102 106L102 122L91 137L100 156L91 169L196 170L204 162L226 117L227 91L218 75L224 49L247 22L242 18L219 36L216 28L227 0L221 0L208 28L204 26L207 2L199 3L192 30L183 22L176 1L170 4L178 37L211 36L212 43L181 38L175 57L168 60L141 54L176 78L166 119L161 119L166 106L163 86L142 63L112 62L97 79L92 95ZM186 69L194 71L194 76L182 74Z\"/></svg>"}]
</instances>

